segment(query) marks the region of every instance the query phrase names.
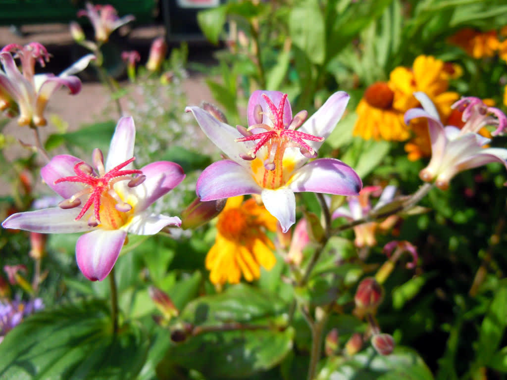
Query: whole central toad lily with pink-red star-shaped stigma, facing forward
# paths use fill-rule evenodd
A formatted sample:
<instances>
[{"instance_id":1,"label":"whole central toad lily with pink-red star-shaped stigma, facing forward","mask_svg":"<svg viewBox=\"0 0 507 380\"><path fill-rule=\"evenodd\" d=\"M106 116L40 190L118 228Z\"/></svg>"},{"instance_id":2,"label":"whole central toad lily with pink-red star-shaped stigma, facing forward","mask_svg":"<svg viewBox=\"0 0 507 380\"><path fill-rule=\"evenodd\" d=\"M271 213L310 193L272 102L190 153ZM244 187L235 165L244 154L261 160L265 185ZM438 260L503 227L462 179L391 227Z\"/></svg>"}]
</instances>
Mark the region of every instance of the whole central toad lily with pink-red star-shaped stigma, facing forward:
<instances>
[{"instance_id":1,"label":"whole central toad lily with pink-red star-shaped stigma, facing forward","mask_svg":"<svg viewBox=\"0 0 507 380\"><path fill-rule=\"evenodd\" d=\"M304 165L335 128L348 99L345 92L336 92L304 122L308 112L298 112L293 118L286 94L255 91L248 101L248 128L233 128L202 108L187 107L204 133L230 158L203 171L197 195L211 201L260 194L283 232L296 221L295 192L357 195L361 179L343 162L325 158Z\"/></svg>"}]
</instances>

